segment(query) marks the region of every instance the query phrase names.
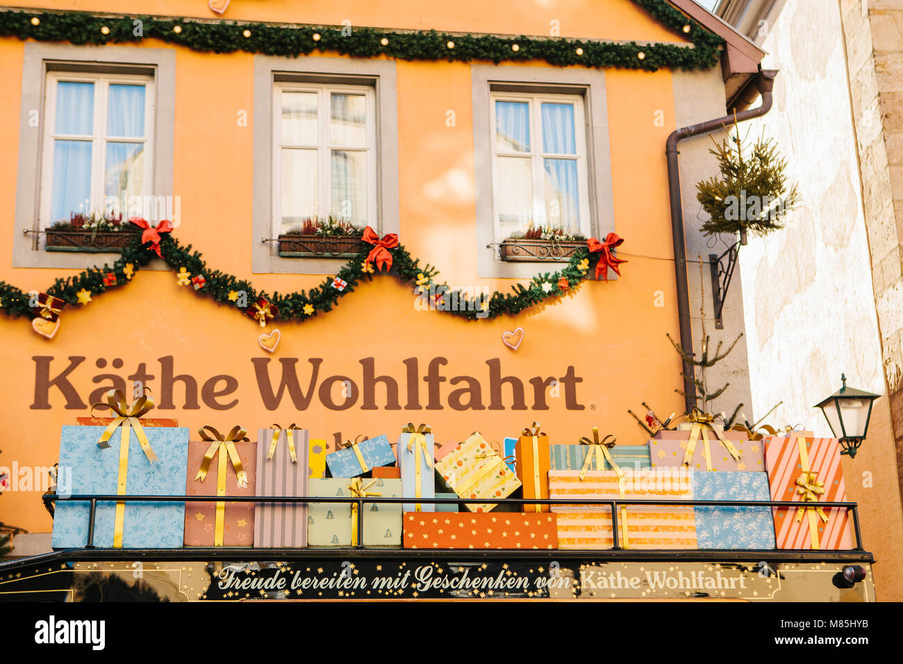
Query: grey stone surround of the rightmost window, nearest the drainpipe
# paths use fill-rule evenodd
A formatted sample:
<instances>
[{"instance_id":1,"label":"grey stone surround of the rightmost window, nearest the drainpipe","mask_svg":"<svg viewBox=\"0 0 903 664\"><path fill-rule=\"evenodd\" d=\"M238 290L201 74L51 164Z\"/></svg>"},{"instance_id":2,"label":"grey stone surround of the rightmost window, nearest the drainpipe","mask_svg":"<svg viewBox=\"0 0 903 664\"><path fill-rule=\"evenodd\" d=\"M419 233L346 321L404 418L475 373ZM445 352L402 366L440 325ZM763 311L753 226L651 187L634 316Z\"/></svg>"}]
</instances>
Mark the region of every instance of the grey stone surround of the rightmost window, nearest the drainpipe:
<instances>
[{"instance_id":1,"label":"grey stone surround of the rightmost window, nearest the drainpipe","mask_svg":"<svg viewBox=\"0 0 903 664\"><path fill-rule=\"evenodd\" d=\"M506 263L498 257L492 219L492 151L489 136L490 90L579 94L586 121L590 232L604 237L615 229L611 193L608 101L605 72L545 67L470 65L477 210L477 269L480 277L531 278L563 263ZM611 271L609 278L617 278Z\"/></svg>"}]
</instances>

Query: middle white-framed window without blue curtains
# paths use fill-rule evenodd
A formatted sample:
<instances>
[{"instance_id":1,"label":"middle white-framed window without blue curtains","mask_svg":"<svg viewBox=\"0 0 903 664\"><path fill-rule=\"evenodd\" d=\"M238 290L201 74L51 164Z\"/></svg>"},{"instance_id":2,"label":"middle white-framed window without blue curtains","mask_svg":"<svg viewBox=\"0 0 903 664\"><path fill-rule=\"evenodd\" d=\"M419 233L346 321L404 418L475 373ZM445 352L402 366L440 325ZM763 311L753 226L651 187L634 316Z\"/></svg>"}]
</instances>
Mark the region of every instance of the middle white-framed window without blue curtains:
<instances>
[{"instance_id":1,"label":"middle white-framed window without blue curtains","mask_svg":"<svg viewBox=\"0 0 903 664\"><path fill-rule=\"evenodd\" d=\"M374 89L280 81L273 111L275 233L330 217L377 228Z\"/></svg>"}]
</instances>

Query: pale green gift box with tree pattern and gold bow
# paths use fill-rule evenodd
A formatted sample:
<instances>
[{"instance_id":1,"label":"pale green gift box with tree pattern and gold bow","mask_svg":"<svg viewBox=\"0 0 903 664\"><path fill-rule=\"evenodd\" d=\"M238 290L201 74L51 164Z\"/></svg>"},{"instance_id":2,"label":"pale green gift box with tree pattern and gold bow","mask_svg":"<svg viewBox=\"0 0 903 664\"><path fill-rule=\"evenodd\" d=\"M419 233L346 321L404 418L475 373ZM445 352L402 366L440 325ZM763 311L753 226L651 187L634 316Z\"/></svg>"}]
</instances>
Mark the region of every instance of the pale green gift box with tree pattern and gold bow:
<instances>
[{"instance_id":1,"label":"pale green gift box with tree pattern and gold bow","mask_svg":"<svg viewBox=\"0 0 903 664\"><path fill-rule=\"evenodd\" d=\"M401 497L401 480L355 478L363 491L382 498ZM351 498L350 478L311 478L311 496ZM401 547L401 505L365 502L358 515L364 521L365 547ZM310 547L352 547L351 505L342 502L312 502L308 506L307 544ZM356 536L355 536L356 537Z\"/></svg>"}]
</instances>

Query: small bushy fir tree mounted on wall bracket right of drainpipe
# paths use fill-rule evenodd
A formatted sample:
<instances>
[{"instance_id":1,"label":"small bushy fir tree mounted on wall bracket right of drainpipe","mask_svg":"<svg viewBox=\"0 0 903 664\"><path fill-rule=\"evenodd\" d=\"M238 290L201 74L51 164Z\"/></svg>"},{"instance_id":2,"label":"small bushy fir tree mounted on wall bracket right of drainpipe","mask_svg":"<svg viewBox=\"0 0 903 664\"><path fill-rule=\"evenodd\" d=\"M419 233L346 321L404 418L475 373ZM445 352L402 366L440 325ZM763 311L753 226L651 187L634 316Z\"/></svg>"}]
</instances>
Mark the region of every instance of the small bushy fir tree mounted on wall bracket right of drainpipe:
<instances>
[{"instance_id":1,"label":"small bushy fir tree mounted on wall bracket right of drainpipe","mask_svg":"<svg viewBox=\"0 0 903 664\"><path fill-rule=\"evenodd\" d=\"M767 235L782 228L799 192L787 182L787 162L774 140L759 136L750 149L735 122L734 134L709 152L718 158L721 177L696 184L696 198L711 217L703 233L740 233L745 244L747 232Z\"/></svg>"}]
</instances>

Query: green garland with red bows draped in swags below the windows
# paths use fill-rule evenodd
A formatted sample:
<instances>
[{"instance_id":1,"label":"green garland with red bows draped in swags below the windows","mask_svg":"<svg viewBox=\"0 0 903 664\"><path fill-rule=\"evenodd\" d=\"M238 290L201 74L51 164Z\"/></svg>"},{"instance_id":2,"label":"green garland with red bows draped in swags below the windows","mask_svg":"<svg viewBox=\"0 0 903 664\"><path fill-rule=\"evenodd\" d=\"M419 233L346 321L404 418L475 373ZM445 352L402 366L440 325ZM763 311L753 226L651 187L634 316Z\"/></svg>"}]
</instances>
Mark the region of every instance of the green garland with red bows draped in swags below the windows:
<instances>
[{"instance_id":1,"label":"green garland with red bows draped in swags below the windows","mask_svg":"<svg viewBox=\"0 0 903 664\"><path fill-rule=\"evenodd\" d=\"M338 304L343 295L352 292L362 280L370 281L373 276L378 274L365 272L362 269L367 261L369 250L372 248L365 245L365 248L341 267L336 275L348 284L343 290L334 287L332 278L328 277L309 291L268 295L263 291L257 291L254 285L244 279L238 279L236 276L219 270L209 269L200 252L192 252L191 245L182 247L177 239L168 234L163 237L160 248L163 260L173 271L179 272L184 267L189 276L204 277L204 285L196 290L198 295L212 297L219 304L236 308L242 313L245 313L247 306L254 304L258 297L264 297L279 309L278 317L284 321L304 321L318 313L329 312L335 304ZM429 296L431 285L434 293L444 292L444 297L447 298L446 302L451 308L443 308L443 305L436 304L433 304L433 307L437 311L452 313L470 320L491 319L505 314L520 313L544 300L564 295L593 272L601 256L599 253L591 254L588 248L580 248L574 252L567 266L558 272L535 276L527 286L514 285L511 293L495 291L484 297L472 297L461 290L453 291L447 284L439 285L434 282L433 277L436 276L437 271L429 265L421 267L420 261L412 257L401 245L388 249L388 251L393 258L390 272L405 284L424 288L427 294L424 296ZM123 248L122 254L112 267L108 265L91 267L79 275L57 279L46 290L46 293L67 304L79 304L79 291L88 291L93 298L112 288L126 285L132 276L155 256L156 254L149 245L144 247L142 244L141 234L135 233L135 239ZM104 278L110 274L116 276L116 285L105 285ZM559 280L562 278L567 279L568 282L564 288L559 285ZM543 288L544 284L547 284L546 290ZM188 287L194 290L193 286ZM241 291L246 294L247 306L244 308L239 306L240 302L234 297ZM451 306L454 302L457 304ZM304 311L305 305L308 304L313 307L312 310L309 310L311 313ZM5 282L0 282L0 307L9 316L34 317L37 313L30 303L29 294Z\"/></svg>"}]
</instances>

